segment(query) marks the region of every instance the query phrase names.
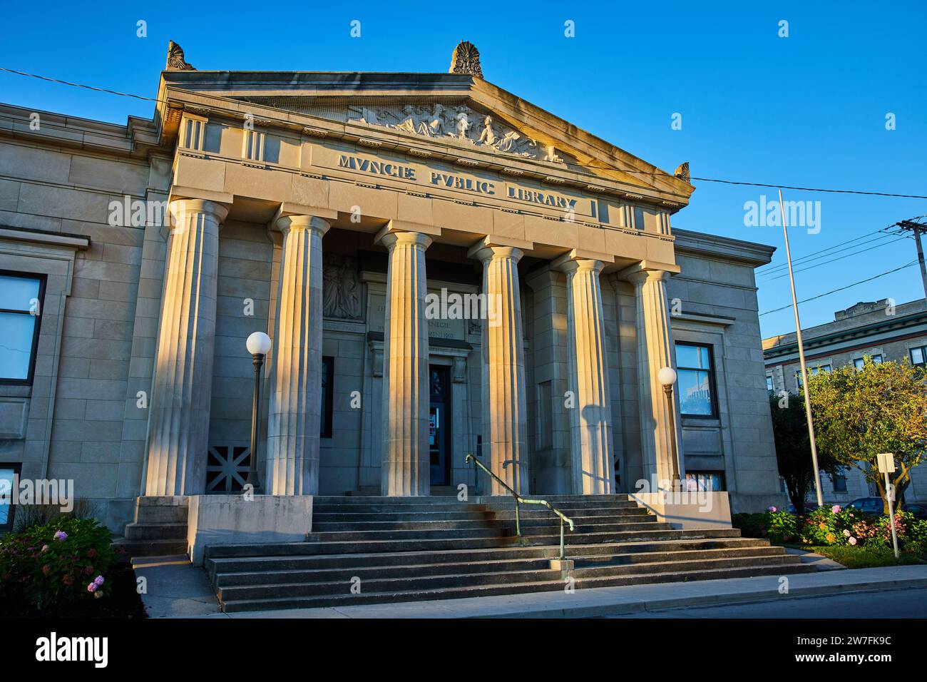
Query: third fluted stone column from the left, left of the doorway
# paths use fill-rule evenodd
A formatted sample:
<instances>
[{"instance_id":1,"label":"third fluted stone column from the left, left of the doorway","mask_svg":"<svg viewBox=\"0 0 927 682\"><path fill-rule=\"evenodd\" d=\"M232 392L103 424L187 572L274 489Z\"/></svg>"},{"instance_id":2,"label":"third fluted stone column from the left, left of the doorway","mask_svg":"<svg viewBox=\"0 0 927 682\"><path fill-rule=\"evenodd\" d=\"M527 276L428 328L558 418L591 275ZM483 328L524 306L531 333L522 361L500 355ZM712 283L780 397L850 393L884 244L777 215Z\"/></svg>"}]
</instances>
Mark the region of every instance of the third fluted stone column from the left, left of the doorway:
<instances>
[{"instance_id":1,"label":"third fluted stone column from the left, left of the doorway","mask_svg":"<svg viewBox=\"0 0 927 682\"><path fill-rule=\"evenodd\" d=\"M428 324L425 249L431 238L384 230L389 250L383 341L382 495L428 495Z\"/></svg>"}]
</instances>

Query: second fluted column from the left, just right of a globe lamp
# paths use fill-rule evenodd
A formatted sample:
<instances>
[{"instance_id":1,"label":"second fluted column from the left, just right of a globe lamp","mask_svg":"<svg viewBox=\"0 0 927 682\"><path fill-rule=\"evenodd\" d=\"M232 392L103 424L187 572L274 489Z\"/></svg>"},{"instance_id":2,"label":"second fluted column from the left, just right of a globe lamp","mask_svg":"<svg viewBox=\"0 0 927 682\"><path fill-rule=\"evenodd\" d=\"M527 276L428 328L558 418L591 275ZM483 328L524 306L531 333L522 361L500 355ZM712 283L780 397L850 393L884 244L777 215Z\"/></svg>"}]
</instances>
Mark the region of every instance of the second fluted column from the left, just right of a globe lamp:
<instances>
[{"instance_id":1,"label":"second fluted column from the left, just right of a globe lamp","mask_svg":"<svg viewBox=\"0 0 927 682\"><path fill-rule=\"evenodd\" d=\"M322 409L322 238L311 215L277 220L284 240L267 422L268 495L318 495Z\"/></svg>"}]
</instances>

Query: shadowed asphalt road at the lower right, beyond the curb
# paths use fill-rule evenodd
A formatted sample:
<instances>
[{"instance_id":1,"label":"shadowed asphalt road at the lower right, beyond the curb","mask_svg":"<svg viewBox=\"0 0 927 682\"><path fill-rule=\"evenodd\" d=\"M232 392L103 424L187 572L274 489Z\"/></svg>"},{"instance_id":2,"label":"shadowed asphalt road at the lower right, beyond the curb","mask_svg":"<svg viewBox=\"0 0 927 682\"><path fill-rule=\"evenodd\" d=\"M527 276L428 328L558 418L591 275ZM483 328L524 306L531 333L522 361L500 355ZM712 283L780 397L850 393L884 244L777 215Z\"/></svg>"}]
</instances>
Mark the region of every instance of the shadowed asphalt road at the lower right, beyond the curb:
<instances>
[{"instance_id":1,"label":"shadowed asphalt road at the lower right, beyond the curb","mask_svg":"<svg viewBox=\"0 0 927 682\"><path fill-rule=\"evenodd\" d=\"M608 618L927 618L927 588L830 597L783 598L756 604L667 609Z\"/></svg>"}]
</instances>

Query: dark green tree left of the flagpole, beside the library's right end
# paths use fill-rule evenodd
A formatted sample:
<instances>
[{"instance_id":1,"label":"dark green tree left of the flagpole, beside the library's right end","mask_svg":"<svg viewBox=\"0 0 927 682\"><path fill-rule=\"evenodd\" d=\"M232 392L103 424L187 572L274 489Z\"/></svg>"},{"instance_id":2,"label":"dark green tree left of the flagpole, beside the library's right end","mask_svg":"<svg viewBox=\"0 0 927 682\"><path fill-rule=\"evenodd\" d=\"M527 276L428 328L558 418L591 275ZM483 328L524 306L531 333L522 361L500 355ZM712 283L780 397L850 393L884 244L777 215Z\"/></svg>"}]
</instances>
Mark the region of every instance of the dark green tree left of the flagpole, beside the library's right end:
<instances>
[{"instance_id":1,"label":"dark green tree left of the flagpole, beside the library's right end","mask_svg":"<svg viewBox=\"0 0 927 682\"><path fill-rule=\"evenodd\" d=\"M776 440L776 462L779 475L785 480L789 499L796 514L805 513L805 498L814 480L811 459L811 439L805 416L805 396L801 393L769 395L772 413L772 435ZM837 471L833 457L818 454L818 468L831 477Z\"/></svg>"}]
</instances>

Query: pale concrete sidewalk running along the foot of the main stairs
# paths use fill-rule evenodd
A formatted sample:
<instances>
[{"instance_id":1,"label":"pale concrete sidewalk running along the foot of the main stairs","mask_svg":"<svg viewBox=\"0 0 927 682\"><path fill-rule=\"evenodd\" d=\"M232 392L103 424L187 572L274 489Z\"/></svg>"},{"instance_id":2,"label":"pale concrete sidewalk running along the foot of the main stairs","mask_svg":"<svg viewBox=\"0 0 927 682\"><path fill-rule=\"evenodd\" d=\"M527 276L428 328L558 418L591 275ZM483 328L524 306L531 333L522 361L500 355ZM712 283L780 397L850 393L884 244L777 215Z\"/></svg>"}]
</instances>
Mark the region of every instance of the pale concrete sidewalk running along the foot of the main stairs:
<instances>
[{"instance_id":1,"label":"pale concrete sidewalk running along the foot of the main stairs","mask_svg":"<svg viewBox=\"0 0 927 682\"><path fill-rule=\"evenodd\" d=\"M688 606L927 587L927 565L916 565L692 583L596 587L577 589L572 594L557 591L324 609L222 613L210 591L206 573L191 567L183 557L146 560L136 564L135 571L148 580L148 592L142 598L152 618L590 618ZM788 592L780 594L780 581L786 577Z\"/></svg>"}]
</instances>

